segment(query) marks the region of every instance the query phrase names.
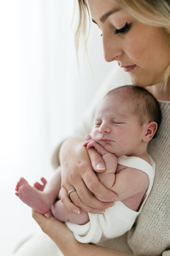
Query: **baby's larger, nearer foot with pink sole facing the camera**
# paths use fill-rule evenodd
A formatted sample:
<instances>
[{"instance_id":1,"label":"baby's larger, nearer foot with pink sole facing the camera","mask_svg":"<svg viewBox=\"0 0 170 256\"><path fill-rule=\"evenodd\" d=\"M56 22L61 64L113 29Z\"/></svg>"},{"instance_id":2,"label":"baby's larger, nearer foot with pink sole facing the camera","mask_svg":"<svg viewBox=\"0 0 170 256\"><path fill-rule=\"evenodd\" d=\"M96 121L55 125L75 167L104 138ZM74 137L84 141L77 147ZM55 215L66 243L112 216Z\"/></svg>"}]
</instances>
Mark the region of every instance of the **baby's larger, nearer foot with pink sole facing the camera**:
<instances>
[{"instance_id":1,"label":"baby's larger, nearer foot with pink sole facing the camera","mask_svg":"<svg viewBox=\"0 0 170 256\"><path fill-rule=\"evenodd\" d=\"M49 212L53 202L50 202L48 194L31 187L23 177L20 178L15 190L17 191L15 194L34 210L41 214Z\"/></svg>"}]
</instances>

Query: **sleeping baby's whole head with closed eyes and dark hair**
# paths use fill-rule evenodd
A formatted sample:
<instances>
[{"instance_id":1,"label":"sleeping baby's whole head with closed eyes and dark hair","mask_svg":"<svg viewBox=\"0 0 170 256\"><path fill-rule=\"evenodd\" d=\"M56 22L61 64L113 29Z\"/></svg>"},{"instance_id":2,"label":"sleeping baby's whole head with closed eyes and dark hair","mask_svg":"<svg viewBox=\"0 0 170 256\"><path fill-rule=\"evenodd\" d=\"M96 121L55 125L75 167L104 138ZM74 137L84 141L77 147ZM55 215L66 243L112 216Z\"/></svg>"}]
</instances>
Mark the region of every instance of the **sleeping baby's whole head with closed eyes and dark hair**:
<instances>
[{"instance_id":1,"label":"sleeping baby's whole head with closed eyes and dark hair","mask_svg":"<svg viewBox=\"0 0 170 256\"><path fill-rule=\"evenodd\" d=\"M146 150L161 122L159 102L146 89L123 86L100 102L91 137L116 156Z\"/></svg>"}]
</instances>

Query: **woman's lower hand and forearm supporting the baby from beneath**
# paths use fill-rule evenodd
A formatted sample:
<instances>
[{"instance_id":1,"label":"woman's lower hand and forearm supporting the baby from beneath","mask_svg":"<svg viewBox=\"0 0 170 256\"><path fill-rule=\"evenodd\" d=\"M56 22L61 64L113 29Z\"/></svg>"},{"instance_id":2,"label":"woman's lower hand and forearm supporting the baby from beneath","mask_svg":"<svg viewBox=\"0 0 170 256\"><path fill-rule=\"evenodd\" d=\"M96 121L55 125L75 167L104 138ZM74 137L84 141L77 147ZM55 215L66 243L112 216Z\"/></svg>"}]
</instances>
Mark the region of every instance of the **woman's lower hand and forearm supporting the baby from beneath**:
<instances>
[{"instance_id":1,"label":"woman's lower hand and forearm supporting the baby from beneath","mask_svg":"<svg viewBox=\"0 0 170 256\"><path fill-rule=\"evenodd\" d=\"M63 222L55 219L52 215L47 218L35 210L32 210L32 216L42 231L56 243L65 256L132 256L131 254L101 247L96 244L78 242L67 226Z\"/></svg>"}]
</instances>

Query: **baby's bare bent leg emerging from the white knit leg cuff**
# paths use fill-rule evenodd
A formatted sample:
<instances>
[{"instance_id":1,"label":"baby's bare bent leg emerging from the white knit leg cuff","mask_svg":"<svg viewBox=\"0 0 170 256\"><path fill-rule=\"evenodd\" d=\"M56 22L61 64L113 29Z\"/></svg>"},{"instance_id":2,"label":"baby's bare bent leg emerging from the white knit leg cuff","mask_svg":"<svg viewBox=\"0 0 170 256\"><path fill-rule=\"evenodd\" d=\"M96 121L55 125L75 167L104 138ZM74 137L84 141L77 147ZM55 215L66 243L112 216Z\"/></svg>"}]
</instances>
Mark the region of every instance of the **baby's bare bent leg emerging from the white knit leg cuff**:
<instances>
[{"instance_id":1,"label":"baby's bare bent leg emerging from the white knit leg cuff","mask_svg":"<svg viewBox=\"0 0 170 256\"><path fill-rule=\"evenodd\" d=\"M70 221L74 224L84 225L89 221L88 213L80 209L80 214L68 211L61 200L56 201L52 207L51 212L54 217L60 221Z\"/></svg>"}]
</instances>

